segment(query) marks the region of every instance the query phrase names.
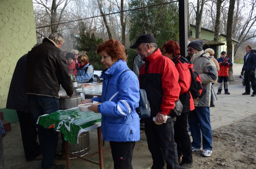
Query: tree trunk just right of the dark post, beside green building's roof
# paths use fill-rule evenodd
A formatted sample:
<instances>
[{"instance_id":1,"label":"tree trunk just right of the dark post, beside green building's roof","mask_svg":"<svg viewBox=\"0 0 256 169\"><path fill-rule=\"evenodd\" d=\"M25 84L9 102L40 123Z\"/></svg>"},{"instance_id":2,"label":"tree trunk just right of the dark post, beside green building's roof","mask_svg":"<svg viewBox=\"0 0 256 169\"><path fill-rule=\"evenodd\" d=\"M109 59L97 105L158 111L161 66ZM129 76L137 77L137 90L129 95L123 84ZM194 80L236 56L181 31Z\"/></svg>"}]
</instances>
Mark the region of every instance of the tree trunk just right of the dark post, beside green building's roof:
<instances>
[{"instance_id":1,"label":"tree trunk just right of the dark post, beside green building's roof","mask_svg":"<svg viewBox=\"0 0 256 169\"><path fill-rule=\"evenodd\" d=\"M201 25L202 25L202 17L203 17L203 10L204 10L204 1L201 2L200 8L200 0L197 0L197 7L196 7L196 38L200 38L201 36Z\"/></svg>"}]
</instances>

